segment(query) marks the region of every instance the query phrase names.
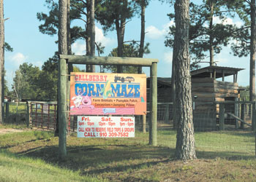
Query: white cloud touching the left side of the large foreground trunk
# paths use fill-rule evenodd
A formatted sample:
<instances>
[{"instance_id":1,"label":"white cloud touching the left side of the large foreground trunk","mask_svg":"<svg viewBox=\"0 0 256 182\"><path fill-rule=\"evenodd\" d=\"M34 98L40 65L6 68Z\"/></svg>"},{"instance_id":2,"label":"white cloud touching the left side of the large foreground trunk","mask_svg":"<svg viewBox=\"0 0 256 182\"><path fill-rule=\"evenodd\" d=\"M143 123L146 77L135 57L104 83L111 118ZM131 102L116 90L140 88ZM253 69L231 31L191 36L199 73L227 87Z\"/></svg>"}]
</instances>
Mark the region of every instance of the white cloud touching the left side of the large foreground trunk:
<instances>
[{"instance_id":1,"label":"white cloud touching the left side of the large foreground trunk","mask_svg":"<svg viewBox=\"0 0 256 182\"><path fill-rule=\"evenodd\" d=\"M162 29L159 29L157 27L155 27L154 25L150 25L146 28L146 36L150 39L160 39L162 38L162 36L166 36L168 31L169 31L169 27L171 25L174 25L174 21L170 21L168 23L166 23L165 25L162 25Z\"/></svg>"}]
</instances>

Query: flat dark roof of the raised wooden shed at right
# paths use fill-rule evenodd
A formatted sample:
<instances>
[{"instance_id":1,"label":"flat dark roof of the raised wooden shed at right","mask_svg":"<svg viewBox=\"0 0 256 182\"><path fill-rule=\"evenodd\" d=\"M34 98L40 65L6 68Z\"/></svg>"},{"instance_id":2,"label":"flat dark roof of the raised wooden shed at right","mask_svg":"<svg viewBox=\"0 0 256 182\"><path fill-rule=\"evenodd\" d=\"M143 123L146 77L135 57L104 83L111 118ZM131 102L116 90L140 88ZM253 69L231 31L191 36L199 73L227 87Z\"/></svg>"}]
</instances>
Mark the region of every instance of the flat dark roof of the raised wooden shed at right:
<instances>
[{"instance_id":1,"label":"flat dark roof of the raised wooden shed at right","mask_svg":"<svg viewBox=\"0 0 256 182\"><path fill-rule=\"evenodd\" d=\"M224 66L207 66L204 68L199 68L197 70L190 71L192 78L206 78L210 77L211 74L216 71L216 78L221 78L222 76L230 76L237 74L238 71L244 70L244 68L231 68ZM224 73L224 74L223 74Z\"/></svg>"}]
</instances>

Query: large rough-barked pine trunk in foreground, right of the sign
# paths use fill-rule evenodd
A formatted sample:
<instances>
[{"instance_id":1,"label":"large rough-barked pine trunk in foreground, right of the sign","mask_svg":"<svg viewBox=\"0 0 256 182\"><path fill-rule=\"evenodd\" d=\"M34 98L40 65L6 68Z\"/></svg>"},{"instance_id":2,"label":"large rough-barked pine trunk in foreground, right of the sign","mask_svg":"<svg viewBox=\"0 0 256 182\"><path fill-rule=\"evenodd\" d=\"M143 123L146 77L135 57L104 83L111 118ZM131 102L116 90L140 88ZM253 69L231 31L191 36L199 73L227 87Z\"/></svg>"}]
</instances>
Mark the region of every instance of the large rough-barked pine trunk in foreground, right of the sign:
<instances>
[{"instance_id":1,"label":"large rough-barked pine trunk in foreground, right of the sign","mask_svg":"<svg viewBox=\"0 0 256 182\"><path fill-rule=\"evenodd\" d=\"M189 72L189 0L176 0L174 64L176 69L176 159L195 159L191 79Z\"/></svg>"}]
</instances>

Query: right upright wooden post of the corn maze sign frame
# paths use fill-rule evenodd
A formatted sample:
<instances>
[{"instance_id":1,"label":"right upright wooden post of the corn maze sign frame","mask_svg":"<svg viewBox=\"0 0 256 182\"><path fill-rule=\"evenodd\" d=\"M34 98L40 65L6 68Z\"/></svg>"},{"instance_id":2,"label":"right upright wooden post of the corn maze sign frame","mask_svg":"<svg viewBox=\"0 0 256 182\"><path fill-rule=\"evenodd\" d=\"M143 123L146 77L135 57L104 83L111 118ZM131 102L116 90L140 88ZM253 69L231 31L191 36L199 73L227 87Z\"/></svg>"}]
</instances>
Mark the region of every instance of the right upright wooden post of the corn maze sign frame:
<instances>
[{"instance_id":1,"label":"right upright wooden post of the corn maze sign frame","mask_svg":"<svg viewBox=\"0 0 256 182\"><path fill-rule=\"evenodd\" d=\"M151 123L152 123L152 134L149 140L149 144L157 146L157 63L152 63L151 66L151 82L152 82L152 105L151 105Z\"/></svg>"}]
</instances>

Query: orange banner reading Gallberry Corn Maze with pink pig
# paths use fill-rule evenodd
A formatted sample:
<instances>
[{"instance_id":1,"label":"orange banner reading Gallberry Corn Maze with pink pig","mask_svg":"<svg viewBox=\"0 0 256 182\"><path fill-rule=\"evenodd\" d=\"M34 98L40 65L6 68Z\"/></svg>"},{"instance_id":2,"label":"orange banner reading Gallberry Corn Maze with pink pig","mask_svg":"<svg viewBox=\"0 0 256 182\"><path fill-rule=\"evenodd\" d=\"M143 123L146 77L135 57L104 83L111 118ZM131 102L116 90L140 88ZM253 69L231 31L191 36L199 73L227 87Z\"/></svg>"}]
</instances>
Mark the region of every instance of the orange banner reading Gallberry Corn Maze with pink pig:
<instances>
[{"instance_id":1,"label":"orange banner reading Gallberry Corn Maze with pink pig","mask_svg":"<svg viewBox=\"0 0 256 182\"><path fill-rule=\"evenodd\" d=\"M71 115L145 115L145 74L71 73Z\"/></svg>"}]
</instances>

